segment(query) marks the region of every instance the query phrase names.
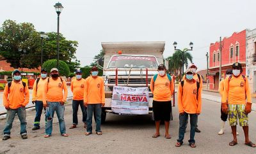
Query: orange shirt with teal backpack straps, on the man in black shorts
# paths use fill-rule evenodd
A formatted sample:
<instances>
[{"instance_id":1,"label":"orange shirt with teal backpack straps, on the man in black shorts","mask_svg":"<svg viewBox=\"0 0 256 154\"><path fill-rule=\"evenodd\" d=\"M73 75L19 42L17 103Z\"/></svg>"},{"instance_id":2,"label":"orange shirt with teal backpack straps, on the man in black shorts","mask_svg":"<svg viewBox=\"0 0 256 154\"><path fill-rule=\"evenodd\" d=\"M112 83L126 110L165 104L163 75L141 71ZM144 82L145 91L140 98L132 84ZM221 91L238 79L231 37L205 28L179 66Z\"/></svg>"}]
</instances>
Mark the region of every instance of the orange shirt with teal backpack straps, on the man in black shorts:
<instances>
[{"instance_id":1,"label":"orange shirt with teal backpack straps, on the man in black shorts","mask_svg":"<svg viewBox=\"0 0 256 154\"><path fill-rule=\"evenodd\" d=\"M170 81L167 75L160 76L158 74L155 83L154 78L151 79L150 90L154 95L154 101L171 101L174 90L173 80Z\"/></svg>"}]
</instances>

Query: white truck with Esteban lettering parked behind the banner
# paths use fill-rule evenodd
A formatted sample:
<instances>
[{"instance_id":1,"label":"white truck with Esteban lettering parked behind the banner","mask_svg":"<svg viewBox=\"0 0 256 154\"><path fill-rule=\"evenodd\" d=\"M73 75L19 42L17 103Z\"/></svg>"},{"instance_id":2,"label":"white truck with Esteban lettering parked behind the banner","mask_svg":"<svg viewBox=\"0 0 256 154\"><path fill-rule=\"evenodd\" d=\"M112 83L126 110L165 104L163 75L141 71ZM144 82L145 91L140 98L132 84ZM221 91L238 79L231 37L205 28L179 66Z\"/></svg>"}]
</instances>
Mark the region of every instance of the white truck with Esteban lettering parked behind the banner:
<instances>
[{"instance_id":1,"label":"white truck with Esteban lettering parked behind the banner","mask_svg":"<svg viewBox=\"0 0 256 154\"><path fill-rule=\"evenodd\" d=\"M106 104L102 108L102 123L111 110L111 98L115 85L125 87L149 87L157 74L157 66L164 64L163 41L102 42L105 52L103 78L106 87ZM152 113L152 92L149 90L148 113Z\"/></svg>"}]
</instances>

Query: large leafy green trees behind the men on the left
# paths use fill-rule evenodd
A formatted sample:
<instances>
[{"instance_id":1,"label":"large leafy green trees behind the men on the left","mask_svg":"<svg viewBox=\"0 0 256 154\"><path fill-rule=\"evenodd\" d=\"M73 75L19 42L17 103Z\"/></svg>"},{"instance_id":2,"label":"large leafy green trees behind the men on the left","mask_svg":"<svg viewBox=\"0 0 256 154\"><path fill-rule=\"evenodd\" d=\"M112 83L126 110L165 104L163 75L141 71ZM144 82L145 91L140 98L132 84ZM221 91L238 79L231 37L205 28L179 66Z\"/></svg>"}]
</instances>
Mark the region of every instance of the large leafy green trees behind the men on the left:
<instances>
[{"instance_id":1,"label":"large leafy green trees behind the men on the left","mask_svg":"<svg viewBox=\"0 0 256 154\"><path fill-rule=\"evenodd\" d=\"M57 33L47 32L43 39L43 62L57 58ZM60 34L60 60L65 61L73 69L76 59L77 41L70 41ZM0 60L6 60L12 67L37 68L41 59L41 38L31 23L17 24L6 20L0 29ZM77 62L76 62L77 64ZM73 71L73 70L72 70Z\"/></svg>"}]
</instances>

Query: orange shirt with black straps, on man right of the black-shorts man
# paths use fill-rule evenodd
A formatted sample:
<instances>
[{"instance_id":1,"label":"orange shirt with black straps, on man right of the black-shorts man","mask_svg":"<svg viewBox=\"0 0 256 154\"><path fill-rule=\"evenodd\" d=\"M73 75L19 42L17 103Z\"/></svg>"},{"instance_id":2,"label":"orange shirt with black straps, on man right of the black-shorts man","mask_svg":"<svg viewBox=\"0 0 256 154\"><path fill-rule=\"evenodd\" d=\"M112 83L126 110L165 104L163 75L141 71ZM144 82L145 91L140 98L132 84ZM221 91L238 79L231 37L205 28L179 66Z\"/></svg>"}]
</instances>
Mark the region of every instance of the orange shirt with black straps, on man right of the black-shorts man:
<instances>
[{"instance_id":1,"label":"orange shirt with black straps, on man right of the black-shorts man","mask_svg":"<svg viewBox=\"0 0 256 154\"><path fill-rule=\"evenodd\" d=\"M201 90L198 90L198 99L196 99L196 80L192 83L184 80L184 85L182 87L179 84L178 91L178 106L179 113L186 112L189 114L201 113L202 108L202 97ZM183 92L182 92L183 91Z\"/></svg>"}]
</instances>

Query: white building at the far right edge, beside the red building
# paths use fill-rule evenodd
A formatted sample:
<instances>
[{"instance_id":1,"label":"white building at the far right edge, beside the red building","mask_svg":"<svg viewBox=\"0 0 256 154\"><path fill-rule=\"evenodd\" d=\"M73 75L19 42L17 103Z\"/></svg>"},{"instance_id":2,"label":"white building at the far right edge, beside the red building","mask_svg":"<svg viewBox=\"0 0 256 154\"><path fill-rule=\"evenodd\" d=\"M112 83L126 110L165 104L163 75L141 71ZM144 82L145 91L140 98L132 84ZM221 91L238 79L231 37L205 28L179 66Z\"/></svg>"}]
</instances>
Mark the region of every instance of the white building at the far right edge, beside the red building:
<instances>
[{"instance_id":1,"label":"white building at the far right edge, beside the red building","mask_svg":"<svg viewBox=\"0 0 256 154\"><path fill-rule=\"evenodd\" d=\"M246 32L246 76L252 93L256 92L256 29Z\"/></svg>"}]
</instances>

